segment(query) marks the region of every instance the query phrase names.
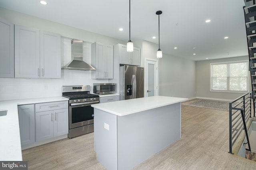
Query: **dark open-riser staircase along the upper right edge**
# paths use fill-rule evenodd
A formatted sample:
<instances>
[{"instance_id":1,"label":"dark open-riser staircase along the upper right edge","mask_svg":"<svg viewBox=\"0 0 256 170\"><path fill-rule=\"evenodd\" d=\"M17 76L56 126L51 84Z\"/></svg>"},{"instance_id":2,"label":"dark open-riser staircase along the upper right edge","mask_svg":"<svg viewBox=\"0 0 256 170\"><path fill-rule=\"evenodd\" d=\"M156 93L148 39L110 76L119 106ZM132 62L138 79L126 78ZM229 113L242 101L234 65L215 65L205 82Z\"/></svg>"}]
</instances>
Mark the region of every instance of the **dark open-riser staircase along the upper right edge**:
<instances>
[{"instance_id":1,"label":"dark open-riser staircase along the upper right edge","mask_svg":"<svg viewBox=\"0 0 256 170\"><path fill-rule=\"evenodd\" d=\"M246 22L246 35L249 53L249 71L252 82L252 100L255 108L256 99L256 4L255 0L244 0L244 18ZM255 55L254 55L255 54ZM255 109L253 109L255 117Z\"/></svg>"}]
</instances>

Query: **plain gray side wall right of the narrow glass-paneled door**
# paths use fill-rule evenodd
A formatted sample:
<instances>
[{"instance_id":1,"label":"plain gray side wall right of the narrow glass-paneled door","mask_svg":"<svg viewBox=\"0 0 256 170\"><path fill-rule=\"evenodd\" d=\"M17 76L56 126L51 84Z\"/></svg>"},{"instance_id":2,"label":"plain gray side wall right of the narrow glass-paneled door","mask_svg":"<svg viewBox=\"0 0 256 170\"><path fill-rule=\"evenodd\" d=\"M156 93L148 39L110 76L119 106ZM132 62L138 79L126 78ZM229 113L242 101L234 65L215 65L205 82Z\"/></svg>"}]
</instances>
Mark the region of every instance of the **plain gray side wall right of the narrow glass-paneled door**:
<instances>
[{"instance_id":1,"label":"plain gray side wall right of the narrow glass-paneled door","mask_svg":"<svg viewBox=\"0 0 256 170\"><path fill-rule=\"evenodd\" d=\"M163 53L159 63L159 84L160 96L195 98L196 62Z\"/></svg>"}]
</instances>

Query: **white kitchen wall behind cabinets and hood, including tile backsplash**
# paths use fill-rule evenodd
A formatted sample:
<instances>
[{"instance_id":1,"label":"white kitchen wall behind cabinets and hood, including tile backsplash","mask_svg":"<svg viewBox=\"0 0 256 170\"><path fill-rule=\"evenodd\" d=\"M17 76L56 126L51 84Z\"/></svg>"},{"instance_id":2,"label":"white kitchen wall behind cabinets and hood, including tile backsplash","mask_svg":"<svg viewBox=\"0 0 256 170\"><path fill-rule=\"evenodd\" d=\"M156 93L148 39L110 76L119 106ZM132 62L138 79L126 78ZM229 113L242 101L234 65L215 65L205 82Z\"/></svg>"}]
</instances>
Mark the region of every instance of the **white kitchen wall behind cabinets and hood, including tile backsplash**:
<instances>
[{"instance_id":1,"label":"white kitchen wall behind cabinets and hood, including tile backsplash","mask_svg":"<svg viewBox=\"0 0 256 170\"><path fill-rule=\"evenodd\" d=\"M63 37L70 37L86 41L84 43L84 61L89 64L91 63L91 43L101 42L110 45L115 45L117 43L126 44L126 42L114 39L112 37L107 37L60 23L43 20L41 18L6 10L4 8L0 8L0 17L14 24L34 27L44 31L59 33ZM138 43L134 42L134 44L140 48L142 46L141 41L138 41ZM63 66L71 60L71 47L68 39L62 38L61 54L61 65ZM108 82L108 80L91 79L90 70L61 70L60 79L0 78L0 100L62 96L62 86L66 85L90 85L92 93L93 83L98 82L104 83Z\"/></svg>"}]
</instances>

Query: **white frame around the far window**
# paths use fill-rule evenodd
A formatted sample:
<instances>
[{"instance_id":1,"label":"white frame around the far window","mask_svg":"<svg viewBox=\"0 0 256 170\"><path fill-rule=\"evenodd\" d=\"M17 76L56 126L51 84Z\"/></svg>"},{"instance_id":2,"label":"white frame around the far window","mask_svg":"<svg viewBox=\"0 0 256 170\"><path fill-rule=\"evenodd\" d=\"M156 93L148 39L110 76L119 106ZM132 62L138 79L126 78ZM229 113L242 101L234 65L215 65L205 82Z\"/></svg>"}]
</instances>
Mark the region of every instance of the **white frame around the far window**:
<instances>
[{"instance_id":1,"label":"white frame around the far window","mask_svg":"<svg viewBox=\"0 0 256 170\"><path fill-rule=\"evenodd\" d=\"M212 89L212 65L218 65L218 64L233 64L233 63L247 63L247 68L249 68L249 61L248 60L241 60L241 61L228 61L228 62L220 62L220 63L210 63L210 92L224 92L224 93L248 93L250 90L250 71L247 70L247 84L246 88L247 91L236 91L236 90L213 90ZM230 70L228 70L229 72ZM228 81L227 81L228 83Z\"/></svg>"}]
</instances>

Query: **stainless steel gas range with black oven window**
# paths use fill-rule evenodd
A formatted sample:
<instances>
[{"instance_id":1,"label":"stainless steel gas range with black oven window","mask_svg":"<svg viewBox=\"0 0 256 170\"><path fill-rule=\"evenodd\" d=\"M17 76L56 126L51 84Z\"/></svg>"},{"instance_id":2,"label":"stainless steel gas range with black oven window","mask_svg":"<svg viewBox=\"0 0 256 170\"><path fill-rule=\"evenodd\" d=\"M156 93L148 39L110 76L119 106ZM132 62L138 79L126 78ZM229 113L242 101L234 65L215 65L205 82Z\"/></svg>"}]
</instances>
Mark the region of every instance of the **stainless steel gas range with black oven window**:
<instances>
[{"instance_id":1,"label":"stainless steel gas range with black oven window","mask_svg":"<svg viewBox=\"0 0 256 170\"><path fill-rule=\"evenodd\" d=\"M100 102L96 94L90 94L90 86L62 86L62 96L69 98L68 137L84 135L94 131L92 104Z\"/></svg>"}]
</instances>

